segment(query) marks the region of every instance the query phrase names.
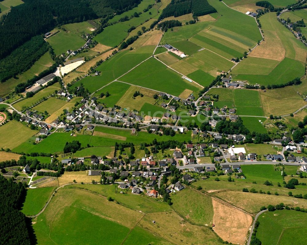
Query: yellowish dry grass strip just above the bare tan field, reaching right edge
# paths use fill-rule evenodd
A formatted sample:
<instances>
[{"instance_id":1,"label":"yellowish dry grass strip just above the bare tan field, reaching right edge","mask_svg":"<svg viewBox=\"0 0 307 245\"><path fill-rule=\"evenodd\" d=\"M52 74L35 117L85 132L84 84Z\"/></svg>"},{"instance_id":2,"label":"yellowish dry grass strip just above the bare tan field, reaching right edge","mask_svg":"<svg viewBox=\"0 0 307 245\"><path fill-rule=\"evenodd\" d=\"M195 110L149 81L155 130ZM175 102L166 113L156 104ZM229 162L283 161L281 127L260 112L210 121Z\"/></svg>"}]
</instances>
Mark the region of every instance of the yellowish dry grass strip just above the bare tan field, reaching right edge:
<instances>
[{"instance_id":1,"label":"yellowish dry grass strip just above the bare tan field, reaching right edge","mask_svg":"<svg viewBox=\"0 0 307 245\"><path fill-rule=\"evenodd\" d=\"M276 205L281 202L293 208L307 207L307 201L304 199L276 196L274 193L272 193L272 195L266 195L260 193L247 193L242 191L225 191L216 193L215 195L222 198L224 201L227 201L231 205L234 205L250 213L259 212L262 206L267 207L267 205Z\"/></svg>"}]
</instances>

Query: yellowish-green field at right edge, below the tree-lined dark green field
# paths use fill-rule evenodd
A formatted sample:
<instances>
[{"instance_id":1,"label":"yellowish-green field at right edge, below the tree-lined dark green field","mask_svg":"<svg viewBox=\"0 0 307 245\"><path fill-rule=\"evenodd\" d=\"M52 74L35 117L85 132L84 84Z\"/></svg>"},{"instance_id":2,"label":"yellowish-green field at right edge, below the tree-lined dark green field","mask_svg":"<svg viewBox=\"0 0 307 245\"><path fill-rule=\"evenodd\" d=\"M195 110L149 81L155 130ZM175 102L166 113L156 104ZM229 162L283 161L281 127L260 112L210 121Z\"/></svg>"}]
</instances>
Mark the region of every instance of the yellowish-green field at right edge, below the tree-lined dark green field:
<instances>
[{"instance_id":1,"label":"yellowish-green field at right edge, below the tree-lined dark green field","mask_svg":"<svg viewBox=\"0 0 307 245\"><path fill-rule=\"evenodd\" d=\"M298 94L296 86L288 86L285 88L279 88L274 90L266 90L266 92L260 92L260 99L265 116L271 114L285 115L290 114L306 105ZM286 94L286 96L285 96ZM289 106L283 106L289 105Z\"/></svg>"}]
</instances>

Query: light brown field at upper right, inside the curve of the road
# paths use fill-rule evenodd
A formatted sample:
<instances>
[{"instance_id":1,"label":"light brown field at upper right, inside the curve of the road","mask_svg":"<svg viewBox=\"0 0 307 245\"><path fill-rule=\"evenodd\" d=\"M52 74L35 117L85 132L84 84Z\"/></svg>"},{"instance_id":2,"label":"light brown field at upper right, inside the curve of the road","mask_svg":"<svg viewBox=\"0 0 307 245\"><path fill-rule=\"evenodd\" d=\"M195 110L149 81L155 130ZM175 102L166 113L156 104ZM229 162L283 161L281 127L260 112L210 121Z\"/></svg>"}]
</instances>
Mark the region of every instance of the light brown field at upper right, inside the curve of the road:
<instances>
[{"instance_id":1,"label":"light brown field at upper right, inside the curve of the road","mask_svg":"<svg viewBox=\"0 0 307 245\"><path fill-rule=\"evenodd\" d=\"M249 56L282 61L286 50L276 32L265 31L264 41Z\"/></svg>"}]
</instances>

